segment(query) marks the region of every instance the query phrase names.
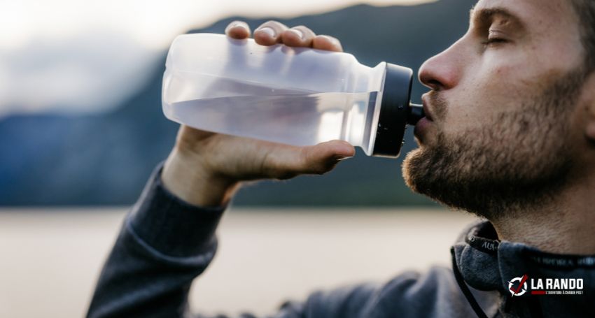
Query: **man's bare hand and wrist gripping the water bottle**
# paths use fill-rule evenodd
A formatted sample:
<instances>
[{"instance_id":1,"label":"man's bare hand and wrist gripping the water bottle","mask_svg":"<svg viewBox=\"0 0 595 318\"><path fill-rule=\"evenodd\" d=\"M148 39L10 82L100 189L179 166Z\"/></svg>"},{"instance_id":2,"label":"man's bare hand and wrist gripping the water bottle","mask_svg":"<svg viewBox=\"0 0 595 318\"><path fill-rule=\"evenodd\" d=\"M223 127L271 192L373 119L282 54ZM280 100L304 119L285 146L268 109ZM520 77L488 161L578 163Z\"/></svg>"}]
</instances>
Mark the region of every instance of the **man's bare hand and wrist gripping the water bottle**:
<instances>
[{"instance_id":1,"label":"man's bare hand and wrist gripping the water bottle","mask_svg":"<svg viewBox=\"0 0 595 318\"><path fill-rule=\"evenodd\" d=\"M245 22L235 21L228 25L225 34L248 38L250 28ZM254 40L261 45L283 43L342 52L336 38L317 36L303 26L289 29L276 21L260 25L254 31ZM162 180L169 191L188 203L216 206L227 203L241 181L322 174L353 154L353 146L342 140L295 147L182 125L174 150L165 161Z\"/></svg>"}]
</instances>

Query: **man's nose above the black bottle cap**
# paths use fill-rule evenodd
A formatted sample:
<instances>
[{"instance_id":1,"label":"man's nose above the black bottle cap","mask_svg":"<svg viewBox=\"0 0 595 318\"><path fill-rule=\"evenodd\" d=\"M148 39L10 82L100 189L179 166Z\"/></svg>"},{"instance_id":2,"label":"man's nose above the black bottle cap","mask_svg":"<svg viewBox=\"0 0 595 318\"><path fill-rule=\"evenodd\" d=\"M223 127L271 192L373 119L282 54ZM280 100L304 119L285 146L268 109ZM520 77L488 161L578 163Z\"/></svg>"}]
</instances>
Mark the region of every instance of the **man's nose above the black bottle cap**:
<instances>
[{"instance_id":1,"label":"man's nose above the black bottle cap","mask_svg":"<svg viewBox=\"0 0 595 318\"><path fill-rule=\"evenodd\" d=\"M461 76L461 57L456 55L454 45L431 57L419 68L419 81L434 90L451 89Z\"/></svg>"}]
</instances>

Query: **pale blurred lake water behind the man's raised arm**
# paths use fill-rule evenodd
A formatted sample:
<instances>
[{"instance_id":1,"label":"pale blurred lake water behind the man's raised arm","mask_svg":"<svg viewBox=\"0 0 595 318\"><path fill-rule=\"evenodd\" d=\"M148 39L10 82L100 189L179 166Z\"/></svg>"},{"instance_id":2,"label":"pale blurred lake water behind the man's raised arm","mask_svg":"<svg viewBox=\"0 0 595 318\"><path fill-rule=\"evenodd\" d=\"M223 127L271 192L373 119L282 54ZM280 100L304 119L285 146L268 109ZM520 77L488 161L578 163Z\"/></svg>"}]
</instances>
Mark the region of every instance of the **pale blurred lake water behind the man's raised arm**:
<instances>
[{"instance_id":1,"label":"pale blurred lake water behind the man's raised arm","mask_svg":"<svg viewBox=\"0 0 595 318\"><path fill-rule=\"evenodd\" d=\"M0 210L0 317L83 317L128 208ZM51 212L51 213L47 213ZM449 266L476 218L445 209L230 208L193 310L265 315L316 289Z\"/></svg>"}]
</instances>

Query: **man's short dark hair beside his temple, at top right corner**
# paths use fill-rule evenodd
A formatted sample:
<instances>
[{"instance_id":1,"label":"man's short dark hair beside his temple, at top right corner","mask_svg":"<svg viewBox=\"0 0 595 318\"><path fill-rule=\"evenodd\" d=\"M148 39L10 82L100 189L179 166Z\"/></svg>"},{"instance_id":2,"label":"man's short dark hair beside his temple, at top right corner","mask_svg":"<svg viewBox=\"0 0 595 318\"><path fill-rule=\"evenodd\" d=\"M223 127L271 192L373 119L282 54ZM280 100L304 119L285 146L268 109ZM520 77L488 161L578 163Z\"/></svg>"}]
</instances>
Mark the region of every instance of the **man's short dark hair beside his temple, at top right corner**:
<instances>
[{"instance_id":1,"label":"man's short dark hair beside his temple, at top right corner","mask_svg":"<svg viewBox=\"0 0 595 318\"><path fill-rule=\"evenodd\" d=\"M572 0L572 4L579 20L586 71L591 73L595 71L595 1Z\"/></svg>"}]
</instances>

